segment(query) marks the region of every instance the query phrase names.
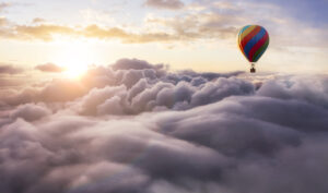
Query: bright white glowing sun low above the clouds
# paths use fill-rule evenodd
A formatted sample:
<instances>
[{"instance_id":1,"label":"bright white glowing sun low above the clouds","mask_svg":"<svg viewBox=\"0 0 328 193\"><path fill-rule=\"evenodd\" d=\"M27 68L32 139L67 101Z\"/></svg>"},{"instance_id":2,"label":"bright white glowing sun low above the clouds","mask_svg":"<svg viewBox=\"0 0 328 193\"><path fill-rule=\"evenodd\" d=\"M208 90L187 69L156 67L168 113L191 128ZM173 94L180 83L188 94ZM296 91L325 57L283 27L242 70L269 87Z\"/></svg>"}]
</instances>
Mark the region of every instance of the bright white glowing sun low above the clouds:
<instances>
[{"instance_id":1,"label":"bright white glowing sun low above the clouds","mask_svg":"<svg viewBox=\"0 0 328 193\"><path fill-rule=\"evenodd\" d=\"M63 75L69 79L79 79L86 73L93 63L93 51L87 44L72 41L61 47L55 63L65 69Z\"/></svg>"}]
</instances>

